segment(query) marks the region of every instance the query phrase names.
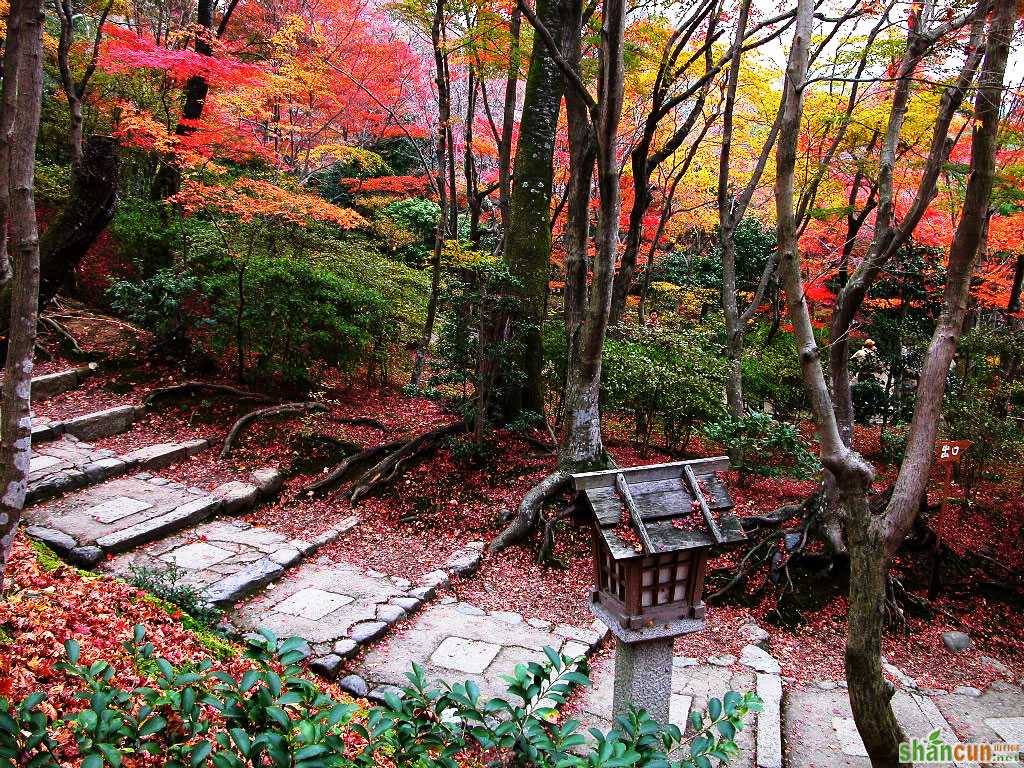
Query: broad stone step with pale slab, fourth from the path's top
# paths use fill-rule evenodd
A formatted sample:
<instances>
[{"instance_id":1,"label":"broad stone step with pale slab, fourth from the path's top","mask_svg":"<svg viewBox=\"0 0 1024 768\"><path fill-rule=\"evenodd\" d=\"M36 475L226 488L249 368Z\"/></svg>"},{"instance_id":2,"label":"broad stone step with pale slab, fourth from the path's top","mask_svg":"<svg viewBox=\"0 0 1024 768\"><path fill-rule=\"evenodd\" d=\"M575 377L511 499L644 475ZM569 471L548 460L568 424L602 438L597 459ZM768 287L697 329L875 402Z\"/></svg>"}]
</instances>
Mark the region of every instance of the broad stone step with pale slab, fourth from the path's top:
<instances>
[{"instance_id":1,"label":"broad stone step with pale slab, fourth from the path's top","mask_svg":"<svg viewBox=\"0 0 1024 768\"><path fill-rule=\"evenodd\" d=\"M262 487L269 485L251 485L244 495L223 485L207 492L140 472L30 507L27 532L71 562L92 567L108 555L165 539L225 508L244 511L260 499Z\"/></svg>"}]
</instances>

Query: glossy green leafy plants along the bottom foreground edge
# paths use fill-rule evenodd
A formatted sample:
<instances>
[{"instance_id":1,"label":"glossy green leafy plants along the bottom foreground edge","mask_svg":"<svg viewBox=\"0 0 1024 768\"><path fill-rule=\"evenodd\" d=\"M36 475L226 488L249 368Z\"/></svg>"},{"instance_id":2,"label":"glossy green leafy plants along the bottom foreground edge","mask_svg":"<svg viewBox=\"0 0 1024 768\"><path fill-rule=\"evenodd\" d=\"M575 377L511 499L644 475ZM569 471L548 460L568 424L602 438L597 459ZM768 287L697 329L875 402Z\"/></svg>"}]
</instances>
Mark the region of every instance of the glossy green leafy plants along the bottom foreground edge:
<instances>
[{"instance_id":1,"label":"glossy green leafy plants along the bottom foreground edge","mask_svg":"<svg viewBox=\"0 0 1024 768\"><path fill-rule=\"evenodd\" d=\"M126 758L160 757L169 768L370 768L381 764L458 768L710 768L738 750L736 731L760 710L754 693L729 691L690 717L684 736L631 709L609 732L561 720L569 694L590 684L585 662L545 648L544 664L520 664L507 698L484 699L472 682L430 685L414 665L409 684L361 710L305 679L304 641L279 642L269 631L249 640L250 669L240 675L209 660L175 667L135 628L125 643L143 684L118 684L109 663L87 664L75 640L58 671L79 683L78 708L51 719L43 693L14 703L0 697L0 766L60 765L58 731L70 731L83 768L121 768Z\"/></svg>"}]
</instances>

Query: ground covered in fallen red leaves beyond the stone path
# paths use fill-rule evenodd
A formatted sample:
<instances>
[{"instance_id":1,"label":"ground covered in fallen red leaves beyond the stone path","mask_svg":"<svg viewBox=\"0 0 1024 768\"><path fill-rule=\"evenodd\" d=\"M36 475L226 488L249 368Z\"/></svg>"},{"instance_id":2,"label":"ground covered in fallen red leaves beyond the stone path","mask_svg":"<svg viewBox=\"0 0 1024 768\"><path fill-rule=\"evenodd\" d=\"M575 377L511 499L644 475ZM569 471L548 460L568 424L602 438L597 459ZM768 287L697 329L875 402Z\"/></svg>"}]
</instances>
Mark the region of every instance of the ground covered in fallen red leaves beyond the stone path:
<instances>
[{"instance_id":1,"label":"ground covered in fallen red leaves beyond the stone path","mask_svg":"<svg viewBox=\"0 0 1024 768\"><path fill-rule=\"evenodd\" d=\"M83 346L87 347L85 341ZM61 364L57 357L45 368L56 370ZM37 415L55 417L139 403L154 389L198 378L211 381L171 364L126 355L117 365L105 366L78 389L39 403L35 411ZM243 519L288 537L310 538L353 511L341 494L312 499L305 493L305 487L330 466L357 446L413 436L455 420L436 400L411 397L397 388L369 387L361 382L329 381L317 398L329 406L327 413L259 422L248 430L229 457L220 459L216 449L208 450L163 474L189 486L212 489L240 471L279 465L286 472L283 493ZM95 440L95 444L124 453L155 442L222 436L236 419L253 408L252 403L229 397L199 396L175 401L147 413L130 430ZM337 421L353 418L375 420L382 428ZM535 436L547 439L541 434ZM609 453L621 466L670 458L656 451L638 456L629 430L614 419L609 420L607 439ZM858 430L857 444L866 455L877 455L878 429ZM712 449L694 440L690 453L709 453ZM394 484L362 500L354 510L359 524L323 548L318 556L415 579L440 567L467 543L489 541L503 526L503 513L514 510L525 490L554 467L551 453L539 447L536 440L527 441L512 432L495 434L485 461L457 459L456 450L442 444ZM881 488L893 469L881 463L878 468ZM729 473L728 480L739 515L799 502L814 486L813 481L790 478L753 477L740 482L734 473ZM933 492L939 489L936 483ZM1019 572L1024 568L1024 499L1020 490L1019 478L983 484L971 505L955 499L947 504L941 516L932 521L933 527L953 551L981 550L1006 568ZM562 567L538 564L529 548L487 554L474 577L453 579L445 589L459 600L484 610L510 610L527 618L589 626L589 531L562 526L555 557ZM735 557L724 556L711 567L728 568ZM927 561L901 557L896 569L916 573L918 578L907 583L919 591L914 583L921 581L923 569L927 574ZM1021 596L985 597L973 583L975 579L976 574L968 574L944 589L933 603L931 618L911 616L905 631L885 638L888 659L922 687L983 688L997 677L986 659L1005 665L1014 680L1024 679ZM797 585L798 590L806 589L809 595L799 605L801 620L785 625L775 618L779 593L770 586L762 579L750 585L740 599L711 606L707 631L680 639L677 653L701 662L710 656L737 654L748 642L739 630L753 621L769 633L771 651L781 663L783 675L806 681L842 679L845 586L822 583L806 574ZM973 646L956 653L946 650L942 633L949 630L967 632Z\"/></svg>"}]
</instances>

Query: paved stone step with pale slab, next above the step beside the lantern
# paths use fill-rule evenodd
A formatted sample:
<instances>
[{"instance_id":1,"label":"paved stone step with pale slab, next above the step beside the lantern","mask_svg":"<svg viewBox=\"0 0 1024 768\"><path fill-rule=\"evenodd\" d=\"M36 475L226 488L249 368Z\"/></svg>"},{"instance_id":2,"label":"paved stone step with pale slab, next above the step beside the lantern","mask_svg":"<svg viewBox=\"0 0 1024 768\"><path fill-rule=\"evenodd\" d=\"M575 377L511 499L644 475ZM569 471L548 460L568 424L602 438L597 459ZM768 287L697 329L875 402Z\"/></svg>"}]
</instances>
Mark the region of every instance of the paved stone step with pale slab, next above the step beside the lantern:
<instances>
[{"instance_id":1,"label":"paved stone step with pale slab, next above the step beside the lantern","mask_svg":"<svg viewBox=\"0 0 1024 768\"><path fill-rule=\"evenodd\" d=\"M467 574L480 561L482 544L457 552L444 569L416 583L397 575L326 558L307 561L253 600L239 605L230 622L242 632L260 628L279 637L301 637L310 646L310 668L328 678L360 646L384 636L415 612L452 574Z\"/></svg>"}]
</instances>

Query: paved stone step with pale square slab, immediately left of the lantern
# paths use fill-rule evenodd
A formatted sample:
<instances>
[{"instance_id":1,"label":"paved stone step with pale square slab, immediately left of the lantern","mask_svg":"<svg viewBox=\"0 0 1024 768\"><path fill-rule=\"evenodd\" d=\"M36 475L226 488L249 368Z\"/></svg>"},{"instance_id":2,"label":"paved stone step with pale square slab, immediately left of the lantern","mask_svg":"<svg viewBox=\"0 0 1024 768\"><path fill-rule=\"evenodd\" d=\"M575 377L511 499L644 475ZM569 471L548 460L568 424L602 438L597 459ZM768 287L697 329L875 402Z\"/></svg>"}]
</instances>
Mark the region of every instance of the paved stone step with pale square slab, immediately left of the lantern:
<instances>
[{"instance_id":1,"label":"paved stone step with pale square slab, immediately left of the lantern","mask_svg":"<svg viewBox=\"0 0 1024 768\"><path fill-rule=\"evenodd\" d=\"M519 664L545 663L545 646L572 657L589 656L606 632L600 622L581 629L526 620L512 611L486 611L445 598L371 648L358 674L345 678L342 686L358 695L381 698L408 683L406 673L416 663L430 681L473 680L484 698L507 697L503 676L511 675ZM360 687L366 691L360 693Z\"/></svg>"}]
</instances>

